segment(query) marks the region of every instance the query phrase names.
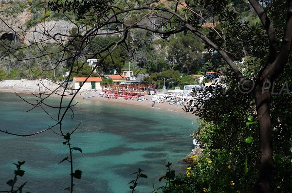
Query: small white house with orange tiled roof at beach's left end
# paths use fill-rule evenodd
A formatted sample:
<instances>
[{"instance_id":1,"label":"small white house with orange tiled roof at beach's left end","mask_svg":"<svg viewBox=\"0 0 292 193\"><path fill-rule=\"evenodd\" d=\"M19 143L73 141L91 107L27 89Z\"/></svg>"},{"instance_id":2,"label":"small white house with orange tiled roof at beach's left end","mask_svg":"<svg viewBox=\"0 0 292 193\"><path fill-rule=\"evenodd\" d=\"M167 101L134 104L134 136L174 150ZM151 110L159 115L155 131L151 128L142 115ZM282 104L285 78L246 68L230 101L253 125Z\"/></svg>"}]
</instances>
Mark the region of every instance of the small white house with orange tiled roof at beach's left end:
<instances>
[{"instance_id":1,"label":"small white house with orange tiled roof at beach's left end","mask_svg":"<svg viewBox=\"0 0 292 193\"><path fill-rule=\"evenodd\" d=\"M85 77L74 77L72 84L73 84L73 89L79 89L82 83L85 81ZM90 77L87 79L85 84L80 90L90 90L90 89L96 89L96 90L101 90L101 82L102 79L100 77Z\"/></svg>"}]
</instances>

